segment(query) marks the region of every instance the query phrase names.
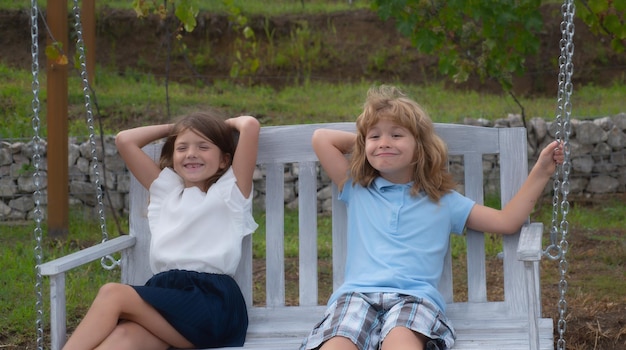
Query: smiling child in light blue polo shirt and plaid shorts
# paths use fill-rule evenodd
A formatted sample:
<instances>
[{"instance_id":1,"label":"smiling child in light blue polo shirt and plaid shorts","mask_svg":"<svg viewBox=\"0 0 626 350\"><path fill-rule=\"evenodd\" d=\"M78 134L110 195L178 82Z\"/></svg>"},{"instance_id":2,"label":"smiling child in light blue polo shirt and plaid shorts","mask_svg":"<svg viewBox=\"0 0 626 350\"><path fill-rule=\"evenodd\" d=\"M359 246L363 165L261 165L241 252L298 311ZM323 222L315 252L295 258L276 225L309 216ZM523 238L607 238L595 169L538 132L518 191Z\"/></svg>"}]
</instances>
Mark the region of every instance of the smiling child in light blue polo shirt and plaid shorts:
<instances>
[{"instance_id":1,"label":"smiling child in light blue polo shirt and plaid shorts","mask_svg":"<svg viewBox=\"0 0 626 350\"><path fill-rule=\"evenodd\" d=\"M437 283L450 232L518 230L563 152L548 145L519 193L496 210L453 190L445 144L398 89L370 89L356 128L313 134L347 206L348 251L345 281L301 349L449 348L455 335Z\"/></svg>"}]
</instances>

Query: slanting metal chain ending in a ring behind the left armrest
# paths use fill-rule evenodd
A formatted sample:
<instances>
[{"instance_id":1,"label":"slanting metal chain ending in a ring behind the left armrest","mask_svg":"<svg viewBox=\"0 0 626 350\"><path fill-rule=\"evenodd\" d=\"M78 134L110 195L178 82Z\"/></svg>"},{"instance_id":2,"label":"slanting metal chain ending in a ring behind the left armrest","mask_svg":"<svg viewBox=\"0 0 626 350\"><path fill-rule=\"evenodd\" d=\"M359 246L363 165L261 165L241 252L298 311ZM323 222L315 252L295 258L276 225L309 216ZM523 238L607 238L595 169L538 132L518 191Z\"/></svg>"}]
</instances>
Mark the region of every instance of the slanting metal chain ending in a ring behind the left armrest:
<instances>
[{"instance_id":1,"label":"slanting metal chain ending in a ring behind the left armrest","mask_svg":"<svg viewBox=\"0 0 626 350\"><path fill-rule=\"evenodd\" d=\"M89 89L89 78L87 75L87 59L85 55L85 42L83 40L83 26L80 19L80 7L78 6L78 0L74 0L74 28L76 29L76 50L78 50L78 59L80 63L80 77L83 85L83 95L85 97L85 110L87 113L87 127L89 130L89 144L91 146L91 163L94 174L94 185L96 187L96 198L98 201L98 216L100 217L100 231L102 232L102 242L106 242L109 239L109 234L106 228L106 217L104 207L104 191L102 190L102 184L100 182L100 163L98 162L97 146L95 139L95 128L93 122L93 108L91 104L91 94ZM104 150L103 150L104 151ZM116 266L119 266L119 260L116 260L111 255L107 255L100 259L100 264L104 269L112 270Z\"/></svg>"}]
</instances>

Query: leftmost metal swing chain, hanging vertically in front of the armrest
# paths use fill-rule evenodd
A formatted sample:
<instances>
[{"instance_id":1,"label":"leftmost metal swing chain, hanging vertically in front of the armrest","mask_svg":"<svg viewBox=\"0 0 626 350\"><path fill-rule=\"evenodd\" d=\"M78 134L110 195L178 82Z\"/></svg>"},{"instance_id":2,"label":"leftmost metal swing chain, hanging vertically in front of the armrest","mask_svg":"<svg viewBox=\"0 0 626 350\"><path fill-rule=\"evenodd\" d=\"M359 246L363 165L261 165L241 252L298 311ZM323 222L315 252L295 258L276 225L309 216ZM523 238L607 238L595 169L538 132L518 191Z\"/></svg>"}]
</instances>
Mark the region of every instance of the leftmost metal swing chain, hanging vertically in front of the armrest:
<instances>
[{"instance_id":1,"label":"leftmost metal swing chain, hanging vertically in front of the armrest","mask_svg":"<svg viewBox=\"0 0 626 350\"><path fill-rule=\"evenodd\" d=\"M39 28L37 24L37 17L39 14L39 9L37 7L37 0L31 0L31 8L30 8L30 36L32 41L31 46L31 55L32 55L32 92L33 92L33 100L31 102L31 107L33 111L32 116L32 125L33 125L33 165L35 167L35 172L33 173L33 183L35 185L35 192L33 194L33 200L35 201L35 209L33 211L33 217L35 220L35 229L33 230L33 234L35 236L35 312L36 315L36 327L37 327L37 349L43 349L43 277L41 276L40 266L43 262L43 248L42 248L42 238L43 238L43 230L41 229L41 223L43 222L43 210L41 208L42 202L42 176L41 176L41 154L42 152L42 141L40 136L40 124L41 121L39 119L39 111L40 111L40 102L39 102Z\"/></svg>"}]
</instances>

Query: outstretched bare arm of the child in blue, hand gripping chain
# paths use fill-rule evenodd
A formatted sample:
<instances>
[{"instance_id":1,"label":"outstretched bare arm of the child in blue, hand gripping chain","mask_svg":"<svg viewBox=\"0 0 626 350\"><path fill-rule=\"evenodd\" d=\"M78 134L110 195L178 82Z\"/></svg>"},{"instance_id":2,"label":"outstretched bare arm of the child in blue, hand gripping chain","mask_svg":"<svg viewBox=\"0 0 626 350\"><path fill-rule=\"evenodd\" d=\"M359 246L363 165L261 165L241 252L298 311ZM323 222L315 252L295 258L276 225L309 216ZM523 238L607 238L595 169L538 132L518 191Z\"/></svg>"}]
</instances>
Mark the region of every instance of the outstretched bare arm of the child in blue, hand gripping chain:
<instances>
[{"instance_id":1,"label":"outstretched bare arm of the child in blue, hand gripping chain","mask_svg":"<svg viewBox=\"0 0 626 350\"><path fill-rule=\"evenodd\" d=\"M483 205L475 205L467 219L467 227L477 231L510 234L517 231L530 215L537 199L556 170L556 164L563 163L563 150L554 141L539 155L537 163L519 192L502 209L497 210Z\"/></svg>"}]
</instances>

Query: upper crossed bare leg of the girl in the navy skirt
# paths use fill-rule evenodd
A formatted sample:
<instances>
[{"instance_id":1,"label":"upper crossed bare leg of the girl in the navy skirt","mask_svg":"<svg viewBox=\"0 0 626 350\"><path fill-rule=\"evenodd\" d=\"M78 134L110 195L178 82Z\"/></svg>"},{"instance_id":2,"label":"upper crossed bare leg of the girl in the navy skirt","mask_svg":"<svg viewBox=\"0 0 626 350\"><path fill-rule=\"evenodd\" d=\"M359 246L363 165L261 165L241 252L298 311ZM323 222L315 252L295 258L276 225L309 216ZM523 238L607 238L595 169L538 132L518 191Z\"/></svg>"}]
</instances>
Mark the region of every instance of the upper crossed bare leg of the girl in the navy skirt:
<instances>
[{"instance_id":1,"label":"upper crossed bare leg of the girl in the navy skirt","mask_svg":"<svg viewBox=\"0 0 626 350\"><path fill-rule=\"evenodd\" d=\"M171 346L193 347L134 288L107 283L100 288L85 318L63 349L95 349L113 332L119 320L135 322Z\"/></svg>"}]
</instances>

